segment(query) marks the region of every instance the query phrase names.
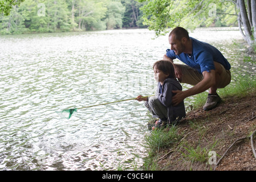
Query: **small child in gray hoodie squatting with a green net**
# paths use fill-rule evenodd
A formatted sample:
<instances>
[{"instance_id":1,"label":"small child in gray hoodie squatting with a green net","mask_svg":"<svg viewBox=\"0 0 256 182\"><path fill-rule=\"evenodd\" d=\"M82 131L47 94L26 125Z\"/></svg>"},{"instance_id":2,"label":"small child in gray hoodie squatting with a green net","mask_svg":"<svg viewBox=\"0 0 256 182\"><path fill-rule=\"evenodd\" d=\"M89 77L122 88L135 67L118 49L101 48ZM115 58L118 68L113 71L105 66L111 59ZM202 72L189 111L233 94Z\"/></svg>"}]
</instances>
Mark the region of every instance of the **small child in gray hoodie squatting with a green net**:
<instances>
[{"instance_id":1,"label":"small child in gray hoodie squatting with a green net","mask_svg":"<svg viewBox=\"0 0 256 182\"><path fill-rule=\"evenodd\" d=\"M182 90L182 86L177 81L173 64L168 60L157 61L153 65L155 79L158 82L157 93L153 97L138 96L137 101L145 101L145 106L152 113L153 118L159 118L155 127L172 124L185 117L184 101L177 106L172 105L172 90ZM155 129L152 127L152 129Z\"/></svg>"}]
</instances>

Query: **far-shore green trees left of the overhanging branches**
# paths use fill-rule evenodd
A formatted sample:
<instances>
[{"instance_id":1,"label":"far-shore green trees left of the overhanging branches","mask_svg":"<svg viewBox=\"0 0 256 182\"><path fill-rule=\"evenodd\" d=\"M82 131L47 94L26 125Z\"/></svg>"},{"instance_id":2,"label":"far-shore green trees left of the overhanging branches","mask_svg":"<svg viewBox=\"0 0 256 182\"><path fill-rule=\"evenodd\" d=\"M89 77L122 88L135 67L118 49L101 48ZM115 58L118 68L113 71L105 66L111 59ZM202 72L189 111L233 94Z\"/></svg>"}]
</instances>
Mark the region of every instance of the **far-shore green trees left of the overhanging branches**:
<instances>
[{"instance_id":1,"label":"far-shore green trees left of the overhanging branches","mask_svg":"<svg viewBox=\"0 0 256 182\"><path fill-rule=\"evenodd\" d=\"M122 28L123 22L138 27L140 6L134 0L0 1L0 34L106 30Z\"/></svg>"}]
</instances>

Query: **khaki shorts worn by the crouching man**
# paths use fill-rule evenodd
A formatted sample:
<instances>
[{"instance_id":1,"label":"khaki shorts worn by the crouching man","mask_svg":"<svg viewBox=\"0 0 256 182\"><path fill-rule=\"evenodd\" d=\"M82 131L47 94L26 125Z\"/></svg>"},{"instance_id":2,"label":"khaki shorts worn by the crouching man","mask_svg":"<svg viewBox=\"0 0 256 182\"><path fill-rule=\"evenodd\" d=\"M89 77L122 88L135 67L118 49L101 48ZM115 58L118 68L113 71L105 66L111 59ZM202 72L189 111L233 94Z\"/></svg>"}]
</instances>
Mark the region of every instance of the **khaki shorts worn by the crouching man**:
<instances>
[{"instance_id":1,"label":"khaki shorts worn by the crouching man","mask_svg":"<svg viewBox=\"0 0 256 182\"><path fill-rule=\"evenodd\" d=\"M188 65L183 64L177 64L178 67L182 69L182 81L181 83L190 84L190 85L196 85L198 82L202 81L204 79L204 76L202 73L199 73L196 69L189 67ZM222 67L222 73L221 73L221 80L218 81L217 88L224 88L225 86L229 85L231 81L231 73L229 70L226 70L223 65Z\"/></svg>"}]
</instances>

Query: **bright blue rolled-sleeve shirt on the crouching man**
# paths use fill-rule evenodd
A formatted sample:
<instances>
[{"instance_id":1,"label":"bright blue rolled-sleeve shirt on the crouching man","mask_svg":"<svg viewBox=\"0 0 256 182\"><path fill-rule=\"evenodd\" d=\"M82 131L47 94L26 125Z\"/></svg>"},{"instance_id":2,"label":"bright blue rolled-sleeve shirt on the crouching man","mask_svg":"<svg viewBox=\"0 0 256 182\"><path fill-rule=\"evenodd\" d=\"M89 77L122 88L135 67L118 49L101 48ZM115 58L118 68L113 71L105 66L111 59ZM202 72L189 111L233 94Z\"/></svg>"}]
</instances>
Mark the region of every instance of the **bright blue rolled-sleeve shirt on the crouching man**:
<instances>
[{"instance_id":1,"label":"bright blue rolled-sleeve shirt on the crouching man","mask_svg":"<svg viewBox=\"0 0 256 182\"><path fill-rule=\"evenodd\" d=\"M192 40L192 55L189 56L187 53L181 53L180 55L175 55L173 50L167 49L166 56L170 59L179 59L186 65L197 69L198 72L202 73L204 71L215 70L213 61L222 64L227 70L230 70L230 64L222 53L212 45L201 42L197 39L190 38Z\"/></svg>"}]
</instances>

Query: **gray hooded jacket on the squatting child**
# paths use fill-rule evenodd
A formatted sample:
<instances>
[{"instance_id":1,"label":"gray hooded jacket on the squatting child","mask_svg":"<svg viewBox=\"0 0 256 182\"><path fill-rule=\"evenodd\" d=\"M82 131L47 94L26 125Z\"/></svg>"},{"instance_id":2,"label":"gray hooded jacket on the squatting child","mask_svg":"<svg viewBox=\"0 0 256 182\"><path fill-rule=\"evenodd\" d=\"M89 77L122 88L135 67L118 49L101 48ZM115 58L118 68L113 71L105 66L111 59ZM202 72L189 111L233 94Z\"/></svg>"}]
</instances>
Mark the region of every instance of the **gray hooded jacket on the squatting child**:
<instances>
[{"instance_id":1,"label":"gray hooded jacket on the squatting child","mask_svg":"<svg viewBox=\"0 0 256 182\"><path fill-rule=\"evenodd\" d=\"M161 86L161 90L160 90ZM180 120L186 116L184 101L180 102L177 106L172 105L172 97L175 95L172 90L182 90L180 82L176 78L166 78L164 84L158 84L156 96L162 105L167 107L168 121Z\"/></svg>"}]
</instances>

